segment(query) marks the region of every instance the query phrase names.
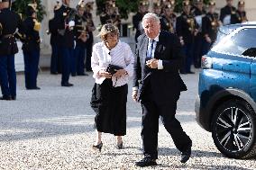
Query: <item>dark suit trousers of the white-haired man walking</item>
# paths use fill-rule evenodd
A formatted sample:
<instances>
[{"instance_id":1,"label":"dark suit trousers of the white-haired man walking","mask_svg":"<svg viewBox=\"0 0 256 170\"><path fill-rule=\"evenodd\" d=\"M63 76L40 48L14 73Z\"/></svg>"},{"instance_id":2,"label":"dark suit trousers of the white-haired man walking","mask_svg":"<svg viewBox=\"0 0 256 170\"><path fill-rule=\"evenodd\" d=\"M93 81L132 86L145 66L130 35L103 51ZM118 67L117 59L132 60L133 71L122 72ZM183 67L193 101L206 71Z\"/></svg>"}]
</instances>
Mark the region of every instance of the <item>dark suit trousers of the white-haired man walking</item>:
<instances>
[{"instance_id":1,"label":"dark suit trousers of the white-haired man walking","mask_svg":"<svg viewBox=\"0 0 256 170\"><path fill-rule=\"evenodd\" d=\"M158 132L159 118L165 129L169 132L173 142L179 151L183 152L191 147L192 141L182 129L175 118L179 94L173 97L169 103L158 103L151 93L151 85L145 87L142 97L142 140L145 157L158 158ZM170 142L170 141L169 141Z\"/></svg>"}]
</instances>

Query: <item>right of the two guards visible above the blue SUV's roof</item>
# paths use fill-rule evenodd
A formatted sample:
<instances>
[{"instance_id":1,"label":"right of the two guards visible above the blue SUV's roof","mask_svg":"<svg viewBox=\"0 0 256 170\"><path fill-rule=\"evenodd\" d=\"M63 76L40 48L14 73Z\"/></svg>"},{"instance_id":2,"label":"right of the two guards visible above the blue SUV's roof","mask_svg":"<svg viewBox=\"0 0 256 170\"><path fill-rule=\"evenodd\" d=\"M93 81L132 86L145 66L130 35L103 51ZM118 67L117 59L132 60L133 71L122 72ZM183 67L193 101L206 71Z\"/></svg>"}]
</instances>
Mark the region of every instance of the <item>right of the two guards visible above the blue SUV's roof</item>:
<instances>
[{"instance_id":1,"label":"right of the two guards visible above the blue SUV's roof","mask_svg":"<svg viewBox=\"0 0 256 170\"><path fill-rule=\"evenodd\" d=\"M231 23L248 22L246 12L244 10L245 2L243 0L238 1L237 10L231 15Z\"/></svg>"}]
</instances>

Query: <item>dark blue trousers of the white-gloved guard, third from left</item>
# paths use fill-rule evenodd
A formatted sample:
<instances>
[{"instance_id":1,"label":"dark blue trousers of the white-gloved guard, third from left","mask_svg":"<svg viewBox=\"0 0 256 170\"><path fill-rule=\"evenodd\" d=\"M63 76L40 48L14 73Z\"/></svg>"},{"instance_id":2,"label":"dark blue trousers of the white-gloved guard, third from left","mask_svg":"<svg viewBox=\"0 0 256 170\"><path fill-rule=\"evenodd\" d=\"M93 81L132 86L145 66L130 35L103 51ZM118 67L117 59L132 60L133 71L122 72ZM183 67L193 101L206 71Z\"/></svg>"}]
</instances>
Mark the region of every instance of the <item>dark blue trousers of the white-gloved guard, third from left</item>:
<instances>
[{"instance_id":1,"label":"dark blue trousers of the white-gloved guard, third from left","mask_svg":"<svg viewBox=\"0 0 256 170\"><path fill-rule=\"evenodd\" d=\"M62 76L61 76L61 85L69 83L70 75L70 60L73 56L73 48L62 48L61 49L61 62L62 62Z\"/></svg>"}]
</instances>

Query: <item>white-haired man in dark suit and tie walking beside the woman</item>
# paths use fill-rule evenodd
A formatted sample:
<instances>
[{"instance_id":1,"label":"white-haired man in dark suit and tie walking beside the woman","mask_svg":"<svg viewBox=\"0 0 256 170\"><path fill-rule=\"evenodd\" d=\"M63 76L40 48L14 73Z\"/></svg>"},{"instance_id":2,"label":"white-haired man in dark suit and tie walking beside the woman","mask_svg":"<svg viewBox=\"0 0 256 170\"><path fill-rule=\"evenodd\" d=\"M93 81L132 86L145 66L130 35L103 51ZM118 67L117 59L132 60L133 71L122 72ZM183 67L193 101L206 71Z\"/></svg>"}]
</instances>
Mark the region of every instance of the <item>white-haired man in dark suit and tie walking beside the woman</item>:
<instances>
[{"instance_id":1,"label":"white-haired man in dark suit and tie walking beside the woman","mask_svg":"<svg viewBox=\"0 0 256 170\"><path fill-rule=\"evenodd\" d=\"M142 141L144 158L136 166L156 166L159 117L185 163L191 155L192 141L175 118L177 101L187 87L178 74L183 55L178 37L160 31L155 13L142 19L145 33L138 38L134 62L133 100L142 103ZM139 81L142 88L138 93Z\"/></svg>"}]
</instances>

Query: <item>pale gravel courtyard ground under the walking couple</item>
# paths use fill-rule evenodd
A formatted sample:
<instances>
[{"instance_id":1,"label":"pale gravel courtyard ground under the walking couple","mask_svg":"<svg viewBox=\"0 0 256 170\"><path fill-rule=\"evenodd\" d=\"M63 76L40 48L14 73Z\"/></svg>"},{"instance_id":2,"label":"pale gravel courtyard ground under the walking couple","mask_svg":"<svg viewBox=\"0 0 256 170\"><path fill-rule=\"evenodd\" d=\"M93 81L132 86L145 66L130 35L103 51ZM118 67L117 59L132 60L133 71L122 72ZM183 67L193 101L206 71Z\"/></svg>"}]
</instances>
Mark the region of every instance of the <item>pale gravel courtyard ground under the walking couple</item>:
<instances>
[{"instance_id":1,"label":"pale gravel courtyard ground under the walking couple","mask_svg":"<svg viewBox=\"0 0 256 170\"><path fill-rule=\"evenodd\" d=\"M17 100L0 102L0 169L140 169L134 162L142 158L142 111L131 99L131 88L124 149L116 149L114 136L104 134L103 150L97 153L91 149L91 74L71 77L75 86L68 88L59 85L60 76L42 72L40 91L25 90L23 79L17 76ZM142 169L256 169L255 158L230 159L215 148L211 134L195 121L198 73L183 79L188 91L180 96L177 118L193 140L192 157L186 165L179 163L179 152L160 123L159 166Z\"/></svg>"}]
</instances>

